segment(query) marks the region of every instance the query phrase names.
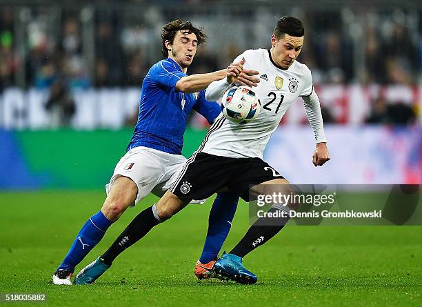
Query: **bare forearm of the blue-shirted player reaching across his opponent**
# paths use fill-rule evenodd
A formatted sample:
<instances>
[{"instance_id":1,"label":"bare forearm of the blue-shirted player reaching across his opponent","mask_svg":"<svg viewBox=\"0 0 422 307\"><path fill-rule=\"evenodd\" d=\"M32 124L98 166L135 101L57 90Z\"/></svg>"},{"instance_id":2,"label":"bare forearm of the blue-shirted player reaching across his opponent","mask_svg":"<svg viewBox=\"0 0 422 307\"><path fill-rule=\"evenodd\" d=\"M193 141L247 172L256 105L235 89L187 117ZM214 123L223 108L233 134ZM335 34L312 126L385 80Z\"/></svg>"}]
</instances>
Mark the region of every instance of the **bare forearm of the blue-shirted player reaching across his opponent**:
<instances>
[{"instance_id":1,"label":"bare forearm of the blue-shirted player reaching across his opponent","mask_svg":"<svg viewBox=\"0 0 422 307\"><path fill-rule=\"evenodd\" d=\"M221 80L227 76L227 69L209 72L208 74L195 74L181 78L175 88L186 94L199 92L207 88L213 81Z\"/></svg>"}]
</instances>

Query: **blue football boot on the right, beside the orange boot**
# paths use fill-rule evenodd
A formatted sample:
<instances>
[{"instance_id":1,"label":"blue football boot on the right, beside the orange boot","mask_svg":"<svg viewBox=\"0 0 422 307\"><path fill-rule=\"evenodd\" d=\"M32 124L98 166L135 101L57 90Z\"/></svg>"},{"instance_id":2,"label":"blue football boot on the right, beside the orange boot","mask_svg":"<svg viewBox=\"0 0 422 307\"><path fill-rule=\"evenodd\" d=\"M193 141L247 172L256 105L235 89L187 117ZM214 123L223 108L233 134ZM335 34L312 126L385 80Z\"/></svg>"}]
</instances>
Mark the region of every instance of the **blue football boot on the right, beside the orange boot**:
<instances>
[{"instance_id":1,"label":"blue football boot on the right, beside the orange boot","mask_svg":"<svg viewBox=\"0 0 422 307\"><path fill-rule=\"evenodd\" d=\"M240 284L255 284L258 280L257 275L247 270L241 257L233 254L224 254L218 259L213 268L215 277L221 280L233 280Z\"/></svg>"}]
</instances>

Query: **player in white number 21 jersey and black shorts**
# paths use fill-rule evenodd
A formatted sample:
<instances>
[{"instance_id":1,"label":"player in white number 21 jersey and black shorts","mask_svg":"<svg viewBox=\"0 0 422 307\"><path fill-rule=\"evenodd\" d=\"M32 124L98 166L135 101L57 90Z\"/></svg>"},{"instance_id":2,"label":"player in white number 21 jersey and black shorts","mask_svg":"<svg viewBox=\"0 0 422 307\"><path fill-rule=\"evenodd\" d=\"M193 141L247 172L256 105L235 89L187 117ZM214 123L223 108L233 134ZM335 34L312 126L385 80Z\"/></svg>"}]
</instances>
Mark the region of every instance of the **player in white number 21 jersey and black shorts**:
<instances>
[{"instance_id":1,"label":"player in white number 21 jersey and black shorts","mask_svg":"<svg viewBox=\"0 0 422 307\"><path fill-rule=\"evenodd\" d=\"M190 200L210 197L221 189L229 189L249 201L250 193L259 195L261 185L277 184L290 189L289 182L277 170L263 161L263 150L288 107L302 97L306 115L316 139L314 166L330 159L323 130L319 99L312 86L307 66L296 61L303 47L304 28L299 19L283 17L271 37L270 50L246 50L237 60L245 58L244 68L258 70L261 82L254 92L261 101L261 113L247 124L232 123L220 115L212 124L199 149L188 159L176 181L161 199L143 210L137 221L137 232L123 232L109 249L108 261L114 260L134 241L141 239L154 226L170 219ZM214 81L206 90L207 99L219 99L232 84ZM252 186L252 188L250 188ZM288 208L275 204L270 212ZM242 258L254 248L265 244L284 226L280 219L272 226L262 219L253 224L245 237L229 253L214 264L219 276L252 284L257 276L246 270ZM126 242L125 237L130 238Z\"/></svg>"}]
</instances>

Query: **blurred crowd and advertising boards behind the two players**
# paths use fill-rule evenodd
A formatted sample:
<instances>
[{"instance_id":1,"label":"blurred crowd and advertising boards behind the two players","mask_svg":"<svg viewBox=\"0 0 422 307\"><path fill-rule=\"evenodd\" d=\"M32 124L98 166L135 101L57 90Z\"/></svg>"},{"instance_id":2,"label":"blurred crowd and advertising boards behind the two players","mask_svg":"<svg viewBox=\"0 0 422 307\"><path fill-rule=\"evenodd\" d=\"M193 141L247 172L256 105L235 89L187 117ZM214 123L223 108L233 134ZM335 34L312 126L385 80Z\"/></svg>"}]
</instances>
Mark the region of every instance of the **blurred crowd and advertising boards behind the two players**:
<instances>
[{"instance_id":1,"label":"blurred crowd and advertising boards behind the two players","mask_svg":"<svg viewBox=\"0 0 422 307\"><path fill-rule=\"evenodd\" d=\"M285 14L305 23L299 61L312 70L332 161L312 166L312 131L298 101L269 143L270 164L298 184L421 183L421 1L0 3L2 190L108 181L168 21L188 19L208 33L193 74L225 68L245 49L268 48ZM192 115L185 155L206 127Z\"/></svg>"}]
</instances>

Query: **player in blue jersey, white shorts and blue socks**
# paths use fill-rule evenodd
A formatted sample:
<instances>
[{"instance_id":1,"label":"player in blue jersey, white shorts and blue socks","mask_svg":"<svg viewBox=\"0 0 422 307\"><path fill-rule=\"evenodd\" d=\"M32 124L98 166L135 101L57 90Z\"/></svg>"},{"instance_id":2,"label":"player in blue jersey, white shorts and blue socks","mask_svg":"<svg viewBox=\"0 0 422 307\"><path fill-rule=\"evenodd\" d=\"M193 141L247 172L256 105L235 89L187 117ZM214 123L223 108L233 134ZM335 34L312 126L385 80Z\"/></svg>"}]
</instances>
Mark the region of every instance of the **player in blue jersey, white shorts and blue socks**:
<instances>
[{"instance_id":1,"label":"player in blue jersey, white shorts and blue socks","mask_svg":"<svg viewBox=\"0 0 422 307\"><path fill-rule=\"evenodd\" d=\"M106 201L77 234L52 277L54 284L72 284L70 278L75 266L98 244L110 225L129 206L134 206L150 192L160 196L170 188L186 161L181 149L189 112L197 110L210 123L221 112L218 103L205 99L205 88L212 81L226 78L228 83L243 81L249 86L259 81L252 76L258 72L243 70L243 60L217 72L186 75L197 46L206 39L203 29L195 28L190 22L178 19L168 23L161 39L164 59L154 64L143 80L137 126L126 154L120 159L106 186ZM230 229L230 224L219 221L232 221L237 201L237 195L230 193L220 193L214 201L210 212L210 235L200 259L202 264L214 263ZM217 215L218 219L215 218ZM126 230L131 230L130 227ZM213 233L219 235L214 237ZM132 238L123 239L128 242ZM106 270L110 266L103 264L101 259L94 262L99 270ZM95 278L83 275L77 283L89 284Z\"/></svg>"}]
</instances>

